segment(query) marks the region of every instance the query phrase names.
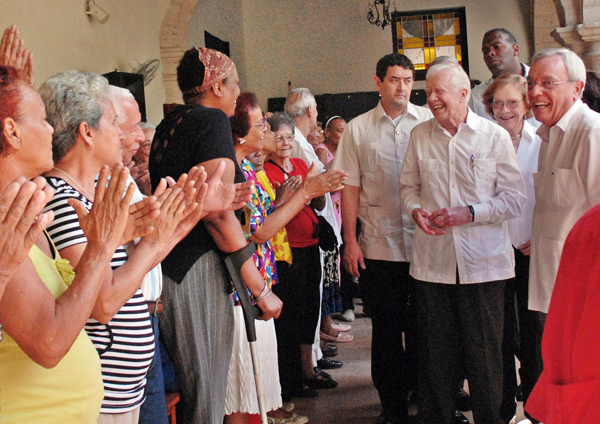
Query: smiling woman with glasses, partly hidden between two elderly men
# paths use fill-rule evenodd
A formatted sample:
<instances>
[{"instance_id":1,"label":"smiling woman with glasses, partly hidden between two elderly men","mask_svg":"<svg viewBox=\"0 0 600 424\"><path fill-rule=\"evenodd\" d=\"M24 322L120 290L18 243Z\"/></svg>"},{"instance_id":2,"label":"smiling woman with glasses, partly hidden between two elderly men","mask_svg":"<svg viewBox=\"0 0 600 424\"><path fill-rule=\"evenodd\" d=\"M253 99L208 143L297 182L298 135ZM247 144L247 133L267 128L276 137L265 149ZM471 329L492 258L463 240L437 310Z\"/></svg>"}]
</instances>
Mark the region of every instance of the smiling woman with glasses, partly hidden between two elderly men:
<instances>
[{"instance_id":1,"label":"smiling woman with glasses, partly hidden between two elderly men","mask_svg":"<svg viewBox=\"0 0 600 424\"><path fill-rule=\"evenodd\" d=\"M536 330L537 321L527 307L531 226L535 206L533 174L537 172L541 139L536 135L536 129L527 121L533 116L533 113L527 97L527 81L522 76L504 74L496 78L483 94L482 100L486 111L494 117L498 125L510 134L527 187L527 201L522 215L507 222L515 251L515 277L506 281L505 289L504 340L502 342L505 377L501 413L504 418L510 420L515 415L517 407L514 355L518 354L521 361L519 374L523 401L527 401L537 376L541 372L541 364L535 361L535 358L541 358L541 355L536 355L533 351L538 345L535 343L535 337L541 337L541 332ZM518 352L514 342L517 318L520 346Z\"/></svg>"}]
</instances>

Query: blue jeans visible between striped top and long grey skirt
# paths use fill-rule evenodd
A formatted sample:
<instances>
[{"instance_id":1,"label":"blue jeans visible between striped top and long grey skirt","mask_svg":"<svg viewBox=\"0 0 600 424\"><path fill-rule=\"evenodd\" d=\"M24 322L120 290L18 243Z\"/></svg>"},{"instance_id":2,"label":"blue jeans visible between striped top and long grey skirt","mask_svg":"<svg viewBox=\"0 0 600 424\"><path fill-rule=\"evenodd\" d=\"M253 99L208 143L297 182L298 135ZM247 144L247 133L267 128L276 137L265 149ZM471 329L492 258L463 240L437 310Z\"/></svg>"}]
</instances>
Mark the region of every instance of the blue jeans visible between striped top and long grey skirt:
<instances>
[{"instance_id":1,"label":"blue jeans visible between striped top and long grey skirt","mask_svg":"<svg viewBox=\"0 0 600 424\"><path fill-rule=\"evenodd\" d=\"M154 330L154 357L146 374L146 400L140 408L140 424L167 424L167 403L165 400L165 382L162 373L162 361L158 342L158 317L150 316Z\"/></svg>"}]
</instances>

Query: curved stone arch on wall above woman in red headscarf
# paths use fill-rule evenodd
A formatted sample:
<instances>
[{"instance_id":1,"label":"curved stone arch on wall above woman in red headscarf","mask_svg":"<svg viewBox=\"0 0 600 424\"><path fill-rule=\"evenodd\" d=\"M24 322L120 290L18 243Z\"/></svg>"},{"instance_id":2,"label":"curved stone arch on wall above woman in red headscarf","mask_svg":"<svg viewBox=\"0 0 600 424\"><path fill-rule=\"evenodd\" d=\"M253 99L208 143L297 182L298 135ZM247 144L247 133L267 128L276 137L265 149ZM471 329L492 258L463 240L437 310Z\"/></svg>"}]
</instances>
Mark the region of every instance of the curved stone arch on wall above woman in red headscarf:
<instances>
[{"instance_id":1,"label":"curved stone arch on wall above woman in red headscarf","mask_svg":"<svg viewBox=\"0 0 600 424\"><path fill-rule=\"evenodd\" d=\"M183 103L177 86L177 65L187 47L188 28L198 0L170 0L160 34L165 103Z\"/></svg>"}]
</instances>

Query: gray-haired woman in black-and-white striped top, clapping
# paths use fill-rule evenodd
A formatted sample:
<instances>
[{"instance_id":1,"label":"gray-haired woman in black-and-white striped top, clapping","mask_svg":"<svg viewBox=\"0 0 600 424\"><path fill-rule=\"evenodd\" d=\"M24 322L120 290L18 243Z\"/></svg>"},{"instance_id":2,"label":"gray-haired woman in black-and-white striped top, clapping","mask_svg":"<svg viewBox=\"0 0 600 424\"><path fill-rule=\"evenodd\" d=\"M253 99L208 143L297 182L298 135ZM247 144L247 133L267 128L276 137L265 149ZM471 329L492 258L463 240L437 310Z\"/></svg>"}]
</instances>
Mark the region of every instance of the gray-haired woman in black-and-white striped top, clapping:
<instances>
[{"instance_id":1,"label":"gray-haired woman in black-and-white striped top, clapping","mask_svg":"<svg viewBox=\"0 0 600 424\"><path fill-rule=\"evenodd\" d=\"M124 135L104 77L82 71L61 73L48 79L40 92L48 121L55 128L55 166L46 174L55 194L46 209L54 211L57 218L48 232L61 256L77 267L87 238L68 201L77 199L87 209L92 207L96 175L105 165L121 164ZM142 237L135 249L127 252L121 246L114 252L85 326L100 355L104 381L99 423L115 419L137 423L144 401L154 336L140 285L144 275L170 251L178 224L194 208L187 207L180 188L166 191L160 200L154 231Z\"/></svg>"}]
</instances>

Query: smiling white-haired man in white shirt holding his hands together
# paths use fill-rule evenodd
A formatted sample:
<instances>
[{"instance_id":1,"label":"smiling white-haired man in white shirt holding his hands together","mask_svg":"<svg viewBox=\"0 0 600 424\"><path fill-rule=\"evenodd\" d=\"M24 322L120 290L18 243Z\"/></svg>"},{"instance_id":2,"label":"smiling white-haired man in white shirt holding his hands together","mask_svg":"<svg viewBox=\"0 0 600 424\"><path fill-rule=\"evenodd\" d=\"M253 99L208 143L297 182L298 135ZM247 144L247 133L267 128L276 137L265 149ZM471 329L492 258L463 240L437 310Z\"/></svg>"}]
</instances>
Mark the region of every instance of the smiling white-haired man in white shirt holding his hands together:
<instances>
[{"instance_id":1,"label":"smiling white-haired man in white shirt holding his hands together","mask_svg":"<svg viewBox=\"0 0 600 424\"><path fill-rule=\"evenodd\" d=\"M508 133L467 107L459 65L431 67L426 92L435 119L413 129L400 175L419 227L419 415L454 422L462 363L475 422L501 424L504 280L515 275L506 221L521 214L525 183Z\"/></svg>"}]
</instances>

